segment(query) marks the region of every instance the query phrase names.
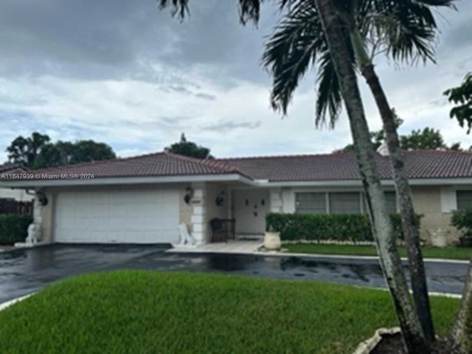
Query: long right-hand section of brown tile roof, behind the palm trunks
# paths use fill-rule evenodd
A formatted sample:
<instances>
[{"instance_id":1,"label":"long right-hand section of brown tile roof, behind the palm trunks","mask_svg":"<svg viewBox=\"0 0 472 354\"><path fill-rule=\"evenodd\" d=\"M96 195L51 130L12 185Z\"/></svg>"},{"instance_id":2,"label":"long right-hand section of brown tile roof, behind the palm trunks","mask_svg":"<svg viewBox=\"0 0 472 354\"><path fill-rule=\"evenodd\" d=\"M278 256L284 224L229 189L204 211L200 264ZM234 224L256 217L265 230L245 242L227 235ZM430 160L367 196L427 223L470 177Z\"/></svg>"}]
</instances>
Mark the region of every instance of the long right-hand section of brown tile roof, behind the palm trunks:
<instances>
[{"instance_id":1,"label":"long right-hand section of brown tile roof, behind the palm trunks","mask_svg":"<svg viewBox=\"0 0 472 354\"><path fill-rule=\"evenodd\" d=\"M382 179L391 179L388 157L376 156ZM254 179L270 181L328 181L360 179L354 153L265 156L219 159ZM472 177L472 153L457 151L405 151L410 178Z\"/></svg>"}]
</instances>

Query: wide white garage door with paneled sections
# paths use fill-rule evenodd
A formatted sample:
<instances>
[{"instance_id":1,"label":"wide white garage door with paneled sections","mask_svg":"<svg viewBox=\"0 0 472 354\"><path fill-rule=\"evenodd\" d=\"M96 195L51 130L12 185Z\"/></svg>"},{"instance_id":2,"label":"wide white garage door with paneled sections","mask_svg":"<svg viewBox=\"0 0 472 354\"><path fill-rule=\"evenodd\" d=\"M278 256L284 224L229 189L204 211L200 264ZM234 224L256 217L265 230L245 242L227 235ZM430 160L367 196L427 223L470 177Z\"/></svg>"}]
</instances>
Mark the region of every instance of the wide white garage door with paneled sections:
<instances>
[{"instance_id":1,"label":"wide white garage door with paneled sections","mask_svg":"<svg viewBox=\"0 0 472 354\"><path fill-rule=\"evenodd\" d=\"M178 240L178 191L124 189L60 192L56 242L173 243Z\"/></svg>"}]
</instances>

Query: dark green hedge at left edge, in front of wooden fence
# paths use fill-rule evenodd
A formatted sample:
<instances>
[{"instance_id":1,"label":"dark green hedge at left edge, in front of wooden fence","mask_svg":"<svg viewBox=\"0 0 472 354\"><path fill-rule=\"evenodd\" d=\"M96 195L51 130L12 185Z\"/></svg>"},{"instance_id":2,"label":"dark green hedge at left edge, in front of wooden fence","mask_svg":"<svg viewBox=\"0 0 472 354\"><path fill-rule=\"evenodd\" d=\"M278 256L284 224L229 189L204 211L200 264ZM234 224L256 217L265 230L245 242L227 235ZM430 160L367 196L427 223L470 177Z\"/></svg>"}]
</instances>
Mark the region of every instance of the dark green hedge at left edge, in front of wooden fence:
<instances>
[{"instance_id":1,"label":"dark green hedge at left edge, in front of wooden fence","mask_svg":"<svg viewBox=\"0 0 472 354\"><path fill-rule=\"evenodd\" d=\"M0 244L24 242L32 222L31 215L0 214Z\"/></svg>"}]
</instances>

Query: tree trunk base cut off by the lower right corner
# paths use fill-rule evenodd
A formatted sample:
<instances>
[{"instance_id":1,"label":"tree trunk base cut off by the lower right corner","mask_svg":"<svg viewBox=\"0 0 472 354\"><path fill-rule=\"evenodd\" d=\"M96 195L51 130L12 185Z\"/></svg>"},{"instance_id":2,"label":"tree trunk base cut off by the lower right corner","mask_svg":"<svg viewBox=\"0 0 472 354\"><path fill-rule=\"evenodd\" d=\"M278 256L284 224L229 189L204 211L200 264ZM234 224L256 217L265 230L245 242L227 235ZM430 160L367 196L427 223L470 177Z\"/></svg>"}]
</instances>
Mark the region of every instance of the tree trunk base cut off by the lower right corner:
<instances>
[{"instance_id":1,"label":"tree trunk base cut off by the lower right corner","mask_svg":"<svg viewBox=\"0 0 472 354\"><path fill-rule=\"evenodd\" d=\"M472 353L472 259L450 337L454 354Z\"/></svg>"}]
</instances>

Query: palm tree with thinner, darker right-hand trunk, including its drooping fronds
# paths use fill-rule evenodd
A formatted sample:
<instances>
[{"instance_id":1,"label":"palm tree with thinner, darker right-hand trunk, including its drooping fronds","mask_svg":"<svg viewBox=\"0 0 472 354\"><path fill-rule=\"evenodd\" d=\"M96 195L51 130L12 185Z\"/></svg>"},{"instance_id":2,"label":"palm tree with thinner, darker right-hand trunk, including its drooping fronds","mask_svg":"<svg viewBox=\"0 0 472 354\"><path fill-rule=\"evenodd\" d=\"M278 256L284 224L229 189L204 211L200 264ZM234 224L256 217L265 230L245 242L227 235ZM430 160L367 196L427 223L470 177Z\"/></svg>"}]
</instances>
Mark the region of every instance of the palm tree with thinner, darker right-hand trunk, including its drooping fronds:
<instances>
[{"instance_id":1,"label":"palm tree with thinner, darker right-hand trunk, including its drooping fronds","mask_svg":"<svg viewBox=\"0 0 472 354\"><path fill-rule=\"evenodd\" d=\"M399 195L402 225L412 278L416 310L425 336L434 340L428 288L421 257L419 230L415 222L411 190L396 122L387 97L372 64L373 57L385 53L396 61L434 61L433 42L437 26L430 6L452 6L452 0L333 0L340 17L349 59L365 77L379 108ZM299 79L312 65L318 67L318 97L315 123L326 121L333 127L341 107L340 85L321 31L321 18L312 2L295 6L270 36L263 54L263 64L273 76L271 103L275 110L287 113L287 106ZM370 49L370 53L367 49Z\"/></svg>"}]
</instances>

